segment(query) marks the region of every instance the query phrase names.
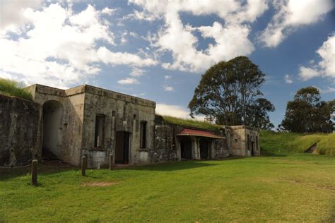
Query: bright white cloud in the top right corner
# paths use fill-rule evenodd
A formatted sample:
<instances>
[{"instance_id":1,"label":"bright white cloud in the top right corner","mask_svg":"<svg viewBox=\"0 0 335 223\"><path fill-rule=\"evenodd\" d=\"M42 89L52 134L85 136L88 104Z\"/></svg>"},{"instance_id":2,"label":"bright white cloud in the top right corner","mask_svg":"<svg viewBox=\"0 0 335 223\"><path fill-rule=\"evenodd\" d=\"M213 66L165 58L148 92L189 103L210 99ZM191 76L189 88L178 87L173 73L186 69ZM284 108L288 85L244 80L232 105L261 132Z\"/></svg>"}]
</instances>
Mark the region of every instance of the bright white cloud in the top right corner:
<instances>
[{"instance_id":1,"label":"bright white cloud in the top right corner","mask_svg":"<svg viewBox=\"0 0 335 223\"><path fill-rule=\"evenodd\" d=\"M317 23L334 8L332 0L286 0L274 1L273 4L277 12L259 36L266 47L278 46L293 29Z\"/></svg>"}]
</instances>

